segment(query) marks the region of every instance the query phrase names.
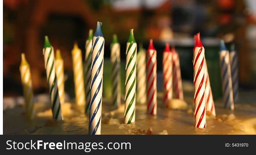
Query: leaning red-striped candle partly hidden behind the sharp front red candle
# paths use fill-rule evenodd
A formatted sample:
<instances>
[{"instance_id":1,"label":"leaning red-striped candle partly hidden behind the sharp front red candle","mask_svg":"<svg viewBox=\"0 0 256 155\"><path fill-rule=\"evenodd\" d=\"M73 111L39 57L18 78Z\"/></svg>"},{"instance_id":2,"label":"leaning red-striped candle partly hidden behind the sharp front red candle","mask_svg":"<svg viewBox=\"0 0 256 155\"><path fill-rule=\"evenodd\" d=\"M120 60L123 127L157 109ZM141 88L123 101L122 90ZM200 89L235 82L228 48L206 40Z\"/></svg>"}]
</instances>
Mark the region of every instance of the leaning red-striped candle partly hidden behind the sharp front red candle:
<instances>
[{"instance_id":1,"label":"leaning red-striped candle partly hidden behind the sharp front red candle","mask_svg":"<svg viewBox=\"0 0 256 155\"><path fill-rule=\"evenodd\" d=\"M205 60L205 99L206 99L206 102L205 102L206 110L210 111L213 114L213 116L216 116L206 60Z\"/></svg>"}]
</instances>

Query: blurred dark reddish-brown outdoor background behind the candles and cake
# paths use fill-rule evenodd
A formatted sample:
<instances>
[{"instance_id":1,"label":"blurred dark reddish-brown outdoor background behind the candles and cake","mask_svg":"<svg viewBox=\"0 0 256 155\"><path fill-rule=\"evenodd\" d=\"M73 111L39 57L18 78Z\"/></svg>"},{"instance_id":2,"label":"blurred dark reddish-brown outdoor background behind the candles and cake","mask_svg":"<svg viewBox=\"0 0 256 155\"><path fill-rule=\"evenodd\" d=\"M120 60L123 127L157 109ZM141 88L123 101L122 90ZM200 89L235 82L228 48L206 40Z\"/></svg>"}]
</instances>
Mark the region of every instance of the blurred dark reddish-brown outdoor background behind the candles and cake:
<instances>
[{"instance_id":1,"label":"blurred dark reddish-brown outdoor background behind the candles and cake","mask_svg":"<svg viewBox=\"0 0 256 155\"><path fill-rule=\"evenodd\" d=\"M4 97L22 95L21 53L26 54L31 67L34 93L48 92L42 54L45 35L49 36L55 51L61 50L65 90L73 97L73 43L78 42L84 59L88 30L95 30L97 21L103 23L105 38L105 97L111 96L109 48L112 35L116 33L121 44L124 83L125 49L131 28L134 28L136 42L143 43L144 48L149 39L154 39L159 73L165 42L175 46L180 56L182 80L190 82L193 82L193 35L200 32L214 98L222 95L219 41L224 39L228 49L234 43L239 55L240 90L256 88L255 0L3 0Z\"/></svg>"}]
</instances>

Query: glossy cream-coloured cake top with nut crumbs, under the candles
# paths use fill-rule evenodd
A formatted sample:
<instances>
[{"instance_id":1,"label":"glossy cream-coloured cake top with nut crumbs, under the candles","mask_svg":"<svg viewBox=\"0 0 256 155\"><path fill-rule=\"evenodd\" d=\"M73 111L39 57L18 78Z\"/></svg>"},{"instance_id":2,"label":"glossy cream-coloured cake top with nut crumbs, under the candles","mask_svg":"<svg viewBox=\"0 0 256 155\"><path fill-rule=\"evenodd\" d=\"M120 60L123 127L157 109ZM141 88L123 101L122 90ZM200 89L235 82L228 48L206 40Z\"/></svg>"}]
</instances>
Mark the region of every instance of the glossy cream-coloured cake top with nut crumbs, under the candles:
<instances>
[{"instance_id":1,"label":"glossy cream-coloured cake top with nut crumbs, under the candles","mask_svg":"<svg viewBox=\"0 0 256 155\"><path fill-rule=\"evenodd\" d=\"M240 92L240 103L234 110L224 109L222 99L215 101L216 117L207 112L207 127L194 127L193 84L183 83L184 101L173 99L168 108L163 108L163 93L158 90L157 115L147 114L146 104L136 104L136 121L124 123L124 96L118 109L111 99L103 98L101 134L256 134L255 92ZM8 107L5 105L4 107ZM88 134L88 116L84 107L74 102L62 106L64 119L52 120L50 104L36 102L36 120L28 121L23 105L5 109L3 112L3 134Z\"/></svg>"}]
</instances>

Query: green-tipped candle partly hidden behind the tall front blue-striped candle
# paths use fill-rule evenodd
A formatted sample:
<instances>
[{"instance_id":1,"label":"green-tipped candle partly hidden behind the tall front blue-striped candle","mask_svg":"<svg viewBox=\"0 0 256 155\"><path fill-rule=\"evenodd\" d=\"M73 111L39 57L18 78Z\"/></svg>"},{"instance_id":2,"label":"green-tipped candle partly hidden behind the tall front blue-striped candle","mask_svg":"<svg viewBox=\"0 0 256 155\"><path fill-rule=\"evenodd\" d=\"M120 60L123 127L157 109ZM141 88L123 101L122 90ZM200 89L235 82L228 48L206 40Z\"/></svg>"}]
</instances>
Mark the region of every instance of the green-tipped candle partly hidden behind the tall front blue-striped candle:
<instances>
[{"instance_id":1,"label":"green-tipped candle partly hidden behind the tall front blue-striped candle","mask_svg":"<svg viewBox=\"0 0 256 155\"><path fill-rule=\"evenodd\" d=\"M85 43L85 65L84 65L84 85L86 95L85 113L89 114L90 107L90 83L92 65L93 30L89 30L89 35Z\"/></svg>"}]
</instances>

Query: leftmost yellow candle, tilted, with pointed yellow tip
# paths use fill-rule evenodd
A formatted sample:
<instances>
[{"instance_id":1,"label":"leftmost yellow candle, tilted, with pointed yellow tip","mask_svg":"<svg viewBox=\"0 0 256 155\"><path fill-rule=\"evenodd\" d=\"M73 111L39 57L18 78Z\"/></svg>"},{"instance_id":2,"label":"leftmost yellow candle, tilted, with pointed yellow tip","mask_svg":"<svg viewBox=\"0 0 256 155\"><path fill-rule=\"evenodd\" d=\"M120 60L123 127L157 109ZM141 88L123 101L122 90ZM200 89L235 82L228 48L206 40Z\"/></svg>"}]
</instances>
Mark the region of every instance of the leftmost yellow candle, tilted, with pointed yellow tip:
<instances>
[{"instance_id":1,"label":"leftmost yellow candle, tilted, with pointed yellow tip","mask_svg":"<svg viewBox=\"0 0 256 155\"><path fill-rule=\"evenodd\" d=\"M27 118L29 120L33 120L35 118L35 110L32 80L29 63L26 61L24 53L21 54L21 64L19 66L19 71L21 75L21 83L23 86L23 95L25 99L25 110Z\"/></svg>"}]
</instances>

